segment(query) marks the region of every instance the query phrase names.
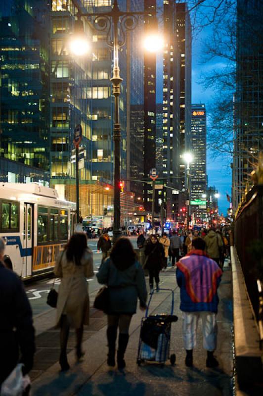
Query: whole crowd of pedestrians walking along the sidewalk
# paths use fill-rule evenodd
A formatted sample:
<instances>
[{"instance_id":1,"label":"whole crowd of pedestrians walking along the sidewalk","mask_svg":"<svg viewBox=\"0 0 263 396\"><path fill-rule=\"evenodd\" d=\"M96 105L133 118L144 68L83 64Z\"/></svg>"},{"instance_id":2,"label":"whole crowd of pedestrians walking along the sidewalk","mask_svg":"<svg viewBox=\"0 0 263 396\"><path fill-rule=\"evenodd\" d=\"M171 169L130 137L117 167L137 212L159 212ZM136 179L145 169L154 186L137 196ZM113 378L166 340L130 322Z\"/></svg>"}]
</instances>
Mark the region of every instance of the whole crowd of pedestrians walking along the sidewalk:
<instances>
[{"instance_id":1,"label":"whole crowd of pedestrians walking along the sidewalk","mask_svg":"<svg viewBox=\"0 0 263 396\"><path fill-rule=\"evenodd\" d=\"M185 364L193 365L196 329L200 319L203 347L207 350L206 365L218 365L213 354L217 346L217 290L223 261L229 254L229 241L224 238L215 229L208 232L201 229L193 233L179 230L170 236L163 234L160 238L152 234L147 239L140 234L137 247L139 252L144 253L141 263L128 238L121 237L112 246L107 232L102 234L97 244L97 249L102 251L102 261L96 277L100 284L107 286L106 337L107 364L110 367L115 366L116 360L120 370L126 366L124 358L129 342L129 327L132 315L136 313L137 300L141 310L147 306L145 274L149 275L150 293L159 292L160 272L167 269L169 261L172 267L176 266L176 281L180 288ZM10 386L12 373L21 363L23 395L27 395L29 382L24 379L28 379L35 353L32 310L22 281L12 271L8 261L5 263L4 247L4 241L0 239L0 386ZM94 275L92 252L88 248L85 233L71 237L57 257L54 274L61 278L55 325L60 329L59 363L61 370L65 371L70 369L67 360L70 328L76 331L76 359L84 358L83 330L89 322L87 278Z\"/></svg>"}]
</instances>

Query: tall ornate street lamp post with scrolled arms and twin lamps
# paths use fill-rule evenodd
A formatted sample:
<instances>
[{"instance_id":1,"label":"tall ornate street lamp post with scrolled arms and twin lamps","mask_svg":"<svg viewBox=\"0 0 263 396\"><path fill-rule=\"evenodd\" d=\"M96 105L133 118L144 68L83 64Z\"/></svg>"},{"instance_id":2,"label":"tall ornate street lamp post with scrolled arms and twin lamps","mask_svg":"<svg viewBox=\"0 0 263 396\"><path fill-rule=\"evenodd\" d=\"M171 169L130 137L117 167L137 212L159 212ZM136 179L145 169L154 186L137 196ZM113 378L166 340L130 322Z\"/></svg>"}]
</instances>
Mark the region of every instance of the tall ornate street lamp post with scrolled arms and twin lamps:
<instances>
[{"instance_id":1,"label":"tall ornate street lamp post with scrolled arms and twin lamps","mask_svg":"<svg viewBox=\"0 0 263 396\"><path fill-rule=\"evenodd\" d=\"M144 15L144 12L139 11L121 11L119 9L118 1L114 0L112 8L108 12L101 13L86 13L82 12L77 1L74 4L78 8L78 17L88 17L88 20L95 26L97 30L106 32L107 45L113 49L113 76L111 78L113 96L114 96L114 223L113 223L113 240L116 241L121 235L121 191L120 191L120 162L121 162L121 127L119 119L119 96L121 93L121 83L123 79L120 76L119 67L119 49L126 43L125 33L136 28L138 18ZM80 19L78 28L80 27ZM113 30L113 40L111 39L111 30ZM119 37L119 32L121 37ZM83 26L82 26L82 40L83 40ZM155 36L155 50L162 46L160 36ZM159 44L158 44L159 43ZM159 48L158 48L159 45ZM82 46L82 45L81 45ZM73 48L74 49L74 48ZM76 49L76 46L75 46ZM151 49L152 50L152 49ZM82 48L81 48L82 51ZM77 51L76 51L77 52ZM83 54L83 53L81 53Z\"/></svg>"}]
</instances>

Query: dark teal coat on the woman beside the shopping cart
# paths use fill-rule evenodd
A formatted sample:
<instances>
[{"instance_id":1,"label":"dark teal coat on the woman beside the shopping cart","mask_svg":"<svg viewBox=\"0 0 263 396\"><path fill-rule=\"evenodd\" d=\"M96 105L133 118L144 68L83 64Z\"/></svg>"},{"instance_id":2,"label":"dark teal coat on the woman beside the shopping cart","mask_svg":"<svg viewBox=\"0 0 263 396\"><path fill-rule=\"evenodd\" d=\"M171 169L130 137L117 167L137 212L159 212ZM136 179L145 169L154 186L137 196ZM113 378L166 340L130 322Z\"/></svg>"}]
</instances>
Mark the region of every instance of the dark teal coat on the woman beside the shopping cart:
<instances>
[{"instance_id":1,"label":"dark teal coat on the woman beside the shopping cart","mask_svg":"<svg viewBox=\"0 0 263 396\"><path fill-rule=\"evenodd\" d=\"M109 257L102 262L96 277L100 284L109 288L110 313L136 313L138 298L140 305L146 306L144 272L138 261L121 271Z\"/></svg>"}]
</instances>

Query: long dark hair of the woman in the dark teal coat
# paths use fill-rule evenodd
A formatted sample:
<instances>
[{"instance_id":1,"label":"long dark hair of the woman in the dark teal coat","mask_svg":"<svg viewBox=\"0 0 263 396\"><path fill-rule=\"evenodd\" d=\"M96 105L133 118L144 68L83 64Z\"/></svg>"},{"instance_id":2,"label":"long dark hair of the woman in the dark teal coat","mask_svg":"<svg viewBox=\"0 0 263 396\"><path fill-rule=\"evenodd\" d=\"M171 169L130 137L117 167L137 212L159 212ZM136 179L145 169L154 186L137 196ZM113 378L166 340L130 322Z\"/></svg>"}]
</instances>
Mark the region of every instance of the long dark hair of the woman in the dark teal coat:
<instances>
[{"instance_id":1,"label":"long dark hair of the woman in the dark teal coat","mask_svg":"<svg viewBox=\"0 0 263 396\"><path fill-rule=\"evenodd\" d=\"M125 271L134 264L136 253L128 238L121 237L115 242L110 253L110 258L115 267L120 271Z\"/></svg>"}]
</instances>

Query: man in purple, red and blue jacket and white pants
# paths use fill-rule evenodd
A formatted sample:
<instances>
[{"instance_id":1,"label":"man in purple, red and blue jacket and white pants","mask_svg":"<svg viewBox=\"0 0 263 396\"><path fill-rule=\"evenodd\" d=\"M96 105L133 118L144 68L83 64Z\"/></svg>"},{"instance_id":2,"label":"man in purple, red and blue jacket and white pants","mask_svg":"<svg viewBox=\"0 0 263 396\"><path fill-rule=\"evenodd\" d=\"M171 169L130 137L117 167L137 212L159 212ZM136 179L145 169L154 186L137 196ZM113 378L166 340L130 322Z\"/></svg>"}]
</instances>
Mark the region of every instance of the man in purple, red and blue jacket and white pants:
<instances>
[{"instance_id":1,"label":"man in purple, red and blue jacket and white pants","mask_svg":"<svg viewBox=\"0 0 263 396\"><path fill-rule=\"evenodd\" d=\"M217 289L222 271L205 253L202 238L192 241L192 249L177 263L176 280L180 288L180 310L183 312L183 342L186 349L185 364L193 365L193 348L196 346L198 319L202 320L203 346L207 350L207 367L217 367L214 357L217 347L217 320L219 297Z\"/></svg>"}]
</instances>

